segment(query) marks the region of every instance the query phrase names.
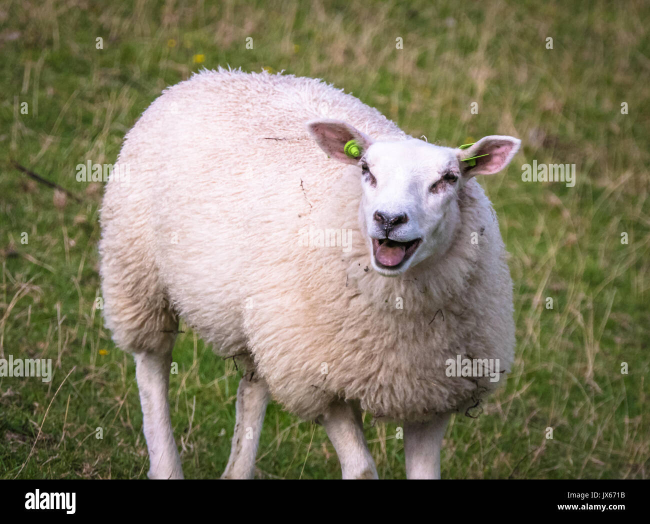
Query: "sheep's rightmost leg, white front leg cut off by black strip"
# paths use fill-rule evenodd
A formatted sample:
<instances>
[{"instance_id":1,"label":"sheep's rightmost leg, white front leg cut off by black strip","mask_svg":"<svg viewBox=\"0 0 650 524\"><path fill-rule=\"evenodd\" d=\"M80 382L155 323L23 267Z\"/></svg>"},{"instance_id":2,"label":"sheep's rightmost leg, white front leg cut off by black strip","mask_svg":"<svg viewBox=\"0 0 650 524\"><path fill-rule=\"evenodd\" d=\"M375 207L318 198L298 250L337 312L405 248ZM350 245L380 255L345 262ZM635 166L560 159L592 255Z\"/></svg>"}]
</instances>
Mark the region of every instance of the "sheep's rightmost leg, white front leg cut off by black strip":
<instances>
[{"instance_id":1,"label":"sheep's rightmost leg, white front leg cut off by black strip","mask_svg":"<svg viewBox=\"0 0 650 524\"><path fill-rule=\"evenodd\" d=\"M440 449L450 413L404 424L406 478L440 478Z\"/></svg>"}]
</instances>

